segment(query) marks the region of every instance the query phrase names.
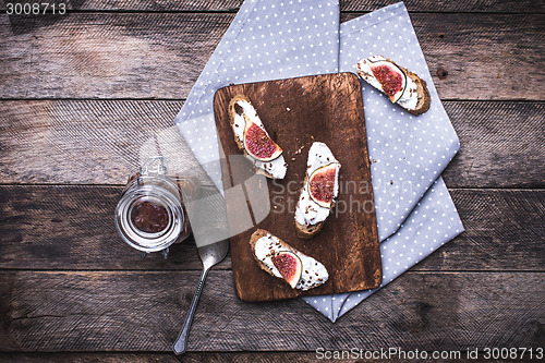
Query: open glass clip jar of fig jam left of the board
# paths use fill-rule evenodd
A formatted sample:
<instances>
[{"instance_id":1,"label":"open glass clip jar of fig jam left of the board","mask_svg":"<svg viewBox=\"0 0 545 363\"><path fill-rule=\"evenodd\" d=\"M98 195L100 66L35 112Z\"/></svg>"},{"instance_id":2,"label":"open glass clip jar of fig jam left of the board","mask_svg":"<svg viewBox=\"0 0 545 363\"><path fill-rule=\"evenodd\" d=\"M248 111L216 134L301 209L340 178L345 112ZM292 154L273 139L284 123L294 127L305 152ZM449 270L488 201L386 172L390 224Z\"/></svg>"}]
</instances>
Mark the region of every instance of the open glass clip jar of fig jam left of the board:
<instances>
[{"instance_id":1,"label":"open glass clip jar of fig jam left of the board","mask_svg":"<svg viewBox=\"0 0 545 363\"><path fill-rule=\"evenodd\" d=\"M182 185L190 180L167 176L165 157L149 158L129 179L116 208L116 228L131 246L142 252L162 251L191 234L183 206Z\"/></svg>"}]
</instances>

